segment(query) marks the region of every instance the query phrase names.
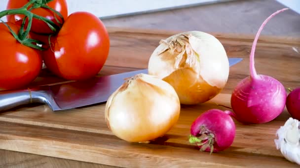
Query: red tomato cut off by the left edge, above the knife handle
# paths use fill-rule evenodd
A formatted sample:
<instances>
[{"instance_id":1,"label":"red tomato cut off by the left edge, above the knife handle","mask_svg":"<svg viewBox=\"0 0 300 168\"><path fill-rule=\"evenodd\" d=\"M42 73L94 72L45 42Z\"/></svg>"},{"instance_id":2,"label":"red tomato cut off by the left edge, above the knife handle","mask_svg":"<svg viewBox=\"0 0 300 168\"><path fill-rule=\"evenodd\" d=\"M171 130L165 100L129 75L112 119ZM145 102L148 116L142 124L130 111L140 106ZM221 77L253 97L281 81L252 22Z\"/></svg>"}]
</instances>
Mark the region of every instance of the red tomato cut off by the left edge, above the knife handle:
<instances>
[{"instance_id":1,"label":"red tomato cut off by the left edge, above the knife handle","mask_svg":"<svg viewBox=\"0 0 300 168\"><path fill-rule=\"evenodd\" d=\"M7 24L18 32L18 26ZM0 37L0 90L25 87L41 70L40 51L19 43L3 23L0 23Z\"/></svg>"}]
</instances>

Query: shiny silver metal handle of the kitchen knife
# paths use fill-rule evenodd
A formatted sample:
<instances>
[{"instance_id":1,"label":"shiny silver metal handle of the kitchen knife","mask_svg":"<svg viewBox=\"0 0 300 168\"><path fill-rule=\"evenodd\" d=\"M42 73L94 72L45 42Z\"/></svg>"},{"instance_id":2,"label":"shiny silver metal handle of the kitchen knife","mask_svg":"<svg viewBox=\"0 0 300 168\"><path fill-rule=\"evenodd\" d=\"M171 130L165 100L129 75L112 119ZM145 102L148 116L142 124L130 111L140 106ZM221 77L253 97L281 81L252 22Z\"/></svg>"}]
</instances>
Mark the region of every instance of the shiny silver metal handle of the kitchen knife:
<instances>
[{"instance_id":1,"label":"shiny silver metal handle of the kitchen knife","mask_svg":"<svg viewBox=\"0 0 300 168\"><path fill-rule=\"evenodd\" d=\"M50 104L52 97L45 90L8 90L0 91L0 111L31 103ZM52 107L51 107L52 108Z\"/></svg>"}]
</instances>

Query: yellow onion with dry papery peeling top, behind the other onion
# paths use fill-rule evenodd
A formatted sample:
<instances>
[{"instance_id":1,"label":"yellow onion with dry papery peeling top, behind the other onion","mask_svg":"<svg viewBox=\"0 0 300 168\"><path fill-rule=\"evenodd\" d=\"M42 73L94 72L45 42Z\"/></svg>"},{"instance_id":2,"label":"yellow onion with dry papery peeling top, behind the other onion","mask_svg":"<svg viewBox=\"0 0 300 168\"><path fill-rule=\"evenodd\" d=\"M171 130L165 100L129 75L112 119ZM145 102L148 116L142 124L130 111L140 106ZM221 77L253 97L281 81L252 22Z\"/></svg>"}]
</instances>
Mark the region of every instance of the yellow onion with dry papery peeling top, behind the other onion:
<instances>
[{"instance_id":1,"label":"yellow onion with dry papery peeling top, behind the other onion","mask_svg":"<svg viewBox=\"0 0 300 168\"><path fill-rule=\"evenodd\" d=\"M216 37L188 31L160 41L150 56L148 72L171 84L182 104L199 104L225 87L229 62Z\"/></svg>"}]
</instances>

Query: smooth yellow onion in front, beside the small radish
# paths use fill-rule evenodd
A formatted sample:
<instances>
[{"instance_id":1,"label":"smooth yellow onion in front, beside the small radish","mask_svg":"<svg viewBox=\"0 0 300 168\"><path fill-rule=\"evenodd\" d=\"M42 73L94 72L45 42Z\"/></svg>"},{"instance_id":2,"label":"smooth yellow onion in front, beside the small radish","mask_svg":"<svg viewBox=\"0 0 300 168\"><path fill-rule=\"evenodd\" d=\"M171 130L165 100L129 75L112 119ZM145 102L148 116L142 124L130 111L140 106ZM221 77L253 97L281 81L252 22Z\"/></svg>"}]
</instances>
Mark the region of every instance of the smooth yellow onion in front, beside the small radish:
<instances>
[{"instance_id":1,"label":"smooth yellow onion in front, beside the small radish","mask_svg":"<svg viewBox=\"0 0 300 168\"><path fill-rule=\"evenodd\" d=\"M174 88L148 74L127 79L112 93L105 108L112 133L130 142L163 136L177 122L179 114L180 101Z\"/></svg>"}]
</instances>

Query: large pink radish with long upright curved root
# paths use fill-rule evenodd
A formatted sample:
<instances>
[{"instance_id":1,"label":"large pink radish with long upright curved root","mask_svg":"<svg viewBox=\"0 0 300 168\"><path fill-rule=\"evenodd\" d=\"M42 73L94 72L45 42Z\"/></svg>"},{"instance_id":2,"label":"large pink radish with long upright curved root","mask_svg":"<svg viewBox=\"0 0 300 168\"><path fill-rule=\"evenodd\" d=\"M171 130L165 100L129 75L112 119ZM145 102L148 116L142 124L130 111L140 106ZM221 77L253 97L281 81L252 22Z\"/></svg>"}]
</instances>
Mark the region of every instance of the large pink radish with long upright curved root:
<instances>
[{"instance_id":1,"label":"large pink radish with long upright curved root","mask_svg":"<svg viewBox=\"0 0 300 168\"><path fill-rule=\"evenodd\" d=\"M266 123L275 119L285 108L287 93L284 86L276 79L258 75L254 67L255 47L264 25L276 14L274 12L258 30L250 53L250 77L240 81L231 95L231 107L242 123Z\"/></svg>"}]
</instances>

